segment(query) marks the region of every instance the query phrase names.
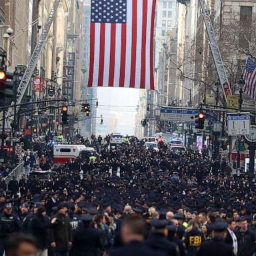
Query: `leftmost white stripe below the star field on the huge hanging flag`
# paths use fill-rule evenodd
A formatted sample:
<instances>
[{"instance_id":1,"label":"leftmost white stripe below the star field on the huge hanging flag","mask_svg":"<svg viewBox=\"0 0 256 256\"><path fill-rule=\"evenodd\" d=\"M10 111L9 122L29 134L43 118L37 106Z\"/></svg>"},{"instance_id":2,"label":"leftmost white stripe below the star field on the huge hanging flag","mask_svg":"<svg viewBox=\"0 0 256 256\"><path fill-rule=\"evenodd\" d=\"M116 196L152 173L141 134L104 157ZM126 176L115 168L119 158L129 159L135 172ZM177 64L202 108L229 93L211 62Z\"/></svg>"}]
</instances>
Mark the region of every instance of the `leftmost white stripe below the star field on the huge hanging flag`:
<instances>
[{"instance_id":1,"label":"leftmost white stripe below the star field on the huge hanging flag","mask_svg":"<svg viewBox=\"0 0 256 256\"><path fill-rule=\"evenodd\" d=\"M99 79L99 47L100 47L101 23L95 23L95 48L93 63L93 87L98 85Z\"/></svg>"}]
</instances>

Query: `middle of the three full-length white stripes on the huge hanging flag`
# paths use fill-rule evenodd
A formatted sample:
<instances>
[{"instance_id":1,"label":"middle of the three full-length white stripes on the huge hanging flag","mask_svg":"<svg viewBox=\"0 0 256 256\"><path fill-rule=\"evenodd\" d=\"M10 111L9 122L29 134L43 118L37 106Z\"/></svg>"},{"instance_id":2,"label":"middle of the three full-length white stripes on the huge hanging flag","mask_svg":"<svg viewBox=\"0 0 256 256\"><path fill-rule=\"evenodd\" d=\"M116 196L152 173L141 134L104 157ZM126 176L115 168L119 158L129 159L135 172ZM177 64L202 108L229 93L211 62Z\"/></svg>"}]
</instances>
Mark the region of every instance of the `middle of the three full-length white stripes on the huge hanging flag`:
<instances>
[{"instance_id":1,"label":"middle of the three full-length white stripes on the huge hanging flag","mask_svg":"<svg viewBox=\"0 0 256 256\"><path fill-rule=\"evenodd\" d=\"M137 1L137 46L136 46L136 69L135 88L141 87L141 41L143 25L143 1Z\"/></svg>"}]
</instances>

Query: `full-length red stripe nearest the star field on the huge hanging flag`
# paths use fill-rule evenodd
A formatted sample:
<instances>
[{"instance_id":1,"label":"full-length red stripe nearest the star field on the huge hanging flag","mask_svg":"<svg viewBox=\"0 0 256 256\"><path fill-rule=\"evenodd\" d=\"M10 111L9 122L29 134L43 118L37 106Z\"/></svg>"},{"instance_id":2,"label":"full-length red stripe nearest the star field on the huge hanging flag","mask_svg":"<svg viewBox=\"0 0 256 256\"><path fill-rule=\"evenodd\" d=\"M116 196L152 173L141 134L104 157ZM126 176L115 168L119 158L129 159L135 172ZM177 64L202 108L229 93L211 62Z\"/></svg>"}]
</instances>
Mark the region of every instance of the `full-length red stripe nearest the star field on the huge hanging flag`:
<instances>
[{"instance_id":1,"label":"full-length red stripe nearest the star field on the huge hanging flag","mask_svg":"<svg viewBox=\"0 0 256 256\"><path fill-rule=\"evenodd\" d=\"M131 79L130 87L135 87L135 71L136 71L136 51L137 51L137 0L133 1L133 17L132 17L132 39L131 39Z\"/></svg>"}]
</instances>

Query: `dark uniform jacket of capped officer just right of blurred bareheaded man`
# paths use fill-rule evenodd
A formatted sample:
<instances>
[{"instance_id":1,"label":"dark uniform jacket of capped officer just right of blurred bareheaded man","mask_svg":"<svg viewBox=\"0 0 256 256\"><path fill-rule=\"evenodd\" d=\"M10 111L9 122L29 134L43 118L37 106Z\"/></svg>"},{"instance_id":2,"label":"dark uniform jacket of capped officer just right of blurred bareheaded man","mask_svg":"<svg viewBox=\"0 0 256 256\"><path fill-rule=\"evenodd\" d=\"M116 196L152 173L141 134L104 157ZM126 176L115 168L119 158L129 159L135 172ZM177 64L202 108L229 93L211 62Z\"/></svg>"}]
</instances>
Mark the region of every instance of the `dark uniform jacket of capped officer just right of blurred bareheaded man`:
<instances>
[{"instance_id":1,"label":"dark uniform jacket of capped officer just right of blurred bareheaded man","mask_svg":"<svg viewBox=\"0 0 256 256\"><path fill-rule=\"evenodd\" d=\"M145 244L153 250L163 251L165 255L176 256L179 255L179 247L176 243L169 241L165 235L161 233L153 233Z\"/></svg>"}]
</instances>

